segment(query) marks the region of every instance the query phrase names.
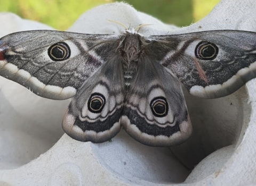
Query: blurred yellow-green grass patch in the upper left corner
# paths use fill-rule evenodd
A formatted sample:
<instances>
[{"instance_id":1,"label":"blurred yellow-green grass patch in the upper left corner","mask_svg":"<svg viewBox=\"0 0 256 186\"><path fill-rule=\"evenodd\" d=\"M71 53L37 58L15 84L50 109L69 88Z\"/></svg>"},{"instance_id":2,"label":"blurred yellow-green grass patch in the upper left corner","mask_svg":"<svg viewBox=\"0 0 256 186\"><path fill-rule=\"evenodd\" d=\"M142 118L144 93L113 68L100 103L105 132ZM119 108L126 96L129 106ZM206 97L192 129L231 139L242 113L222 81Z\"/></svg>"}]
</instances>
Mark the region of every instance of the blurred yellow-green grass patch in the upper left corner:
<instances>
[{"instance_id":1,"label":"blurred yellow-green grass patch in the upper left corner","mask_svg":"<svg viewBox=\"0 0 256 186\"><path fill-rule=\"evenodd\" d=\"M79 15L107 2L107 0L0 0L0 12L13 12L22 18L42 22L58 30L66 30Z\"/></svg>"}]
</instances>

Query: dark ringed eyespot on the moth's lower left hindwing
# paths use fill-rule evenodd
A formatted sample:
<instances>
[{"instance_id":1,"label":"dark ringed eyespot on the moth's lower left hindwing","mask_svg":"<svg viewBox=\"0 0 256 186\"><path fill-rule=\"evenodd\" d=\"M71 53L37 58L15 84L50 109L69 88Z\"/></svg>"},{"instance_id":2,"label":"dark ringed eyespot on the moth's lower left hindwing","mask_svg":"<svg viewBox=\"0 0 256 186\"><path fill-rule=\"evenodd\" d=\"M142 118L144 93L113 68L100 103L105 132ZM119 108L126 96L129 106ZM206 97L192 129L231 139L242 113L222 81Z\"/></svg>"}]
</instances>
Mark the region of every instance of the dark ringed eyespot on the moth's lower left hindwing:
<instances>
[{"instance_id":1,"label":"dark ringed eyespot on the moth's lower left hindwing","mask_svg":"<svg viewBox=\"0 0 256 186\"><path fill-rule=\"evenodd\" d=\"M106 103L105 97L100 93L93 93L88 100L88 109L92 113L100 113Z\"/></svg>"}]
</instances>

